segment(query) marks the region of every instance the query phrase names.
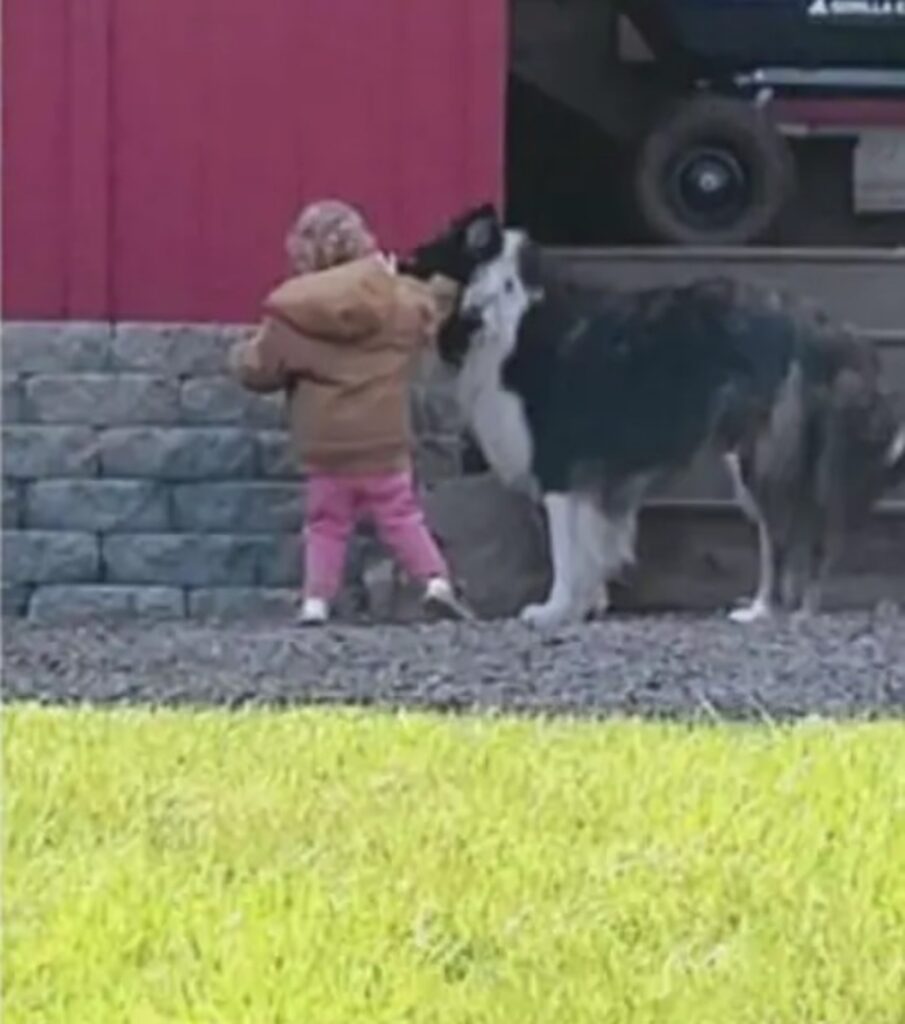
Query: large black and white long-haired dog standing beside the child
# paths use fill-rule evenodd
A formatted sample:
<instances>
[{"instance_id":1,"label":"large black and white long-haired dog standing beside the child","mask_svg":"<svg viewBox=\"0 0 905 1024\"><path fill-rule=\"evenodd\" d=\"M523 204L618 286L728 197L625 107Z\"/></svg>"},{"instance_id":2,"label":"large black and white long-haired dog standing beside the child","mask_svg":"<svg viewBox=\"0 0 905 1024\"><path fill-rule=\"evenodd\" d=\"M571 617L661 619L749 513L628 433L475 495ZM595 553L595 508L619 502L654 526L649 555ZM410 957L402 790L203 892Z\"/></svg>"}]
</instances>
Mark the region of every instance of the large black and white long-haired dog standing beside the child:
<instances>
[{"instance_id":1,"label":"large black and white long-haired dog standing beside the child","mask_svg":"<svg viewBox=\"0 0 905 1024\"><path fill-rule=\"evenodd\" d=\"M773 290L712 280L580 294L489 206L405 268L463 287L441 356L490 467L546 508L553 586L523 610L530 624L605 607L645 496L707 446L758 528L741 623L776 604L816 610L842 540L905 477L905 427L874 349Z\"/></svg>"}]
</instances>

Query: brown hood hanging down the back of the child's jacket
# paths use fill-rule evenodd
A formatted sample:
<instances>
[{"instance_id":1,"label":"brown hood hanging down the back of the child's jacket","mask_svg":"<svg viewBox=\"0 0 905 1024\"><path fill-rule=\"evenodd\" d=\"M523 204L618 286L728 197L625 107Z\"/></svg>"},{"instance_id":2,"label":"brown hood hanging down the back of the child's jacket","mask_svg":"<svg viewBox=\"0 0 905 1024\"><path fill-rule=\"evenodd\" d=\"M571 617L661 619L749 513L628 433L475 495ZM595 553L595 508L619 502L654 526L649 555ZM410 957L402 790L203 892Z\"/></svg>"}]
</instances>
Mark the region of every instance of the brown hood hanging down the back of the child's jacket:
<instances>
[{"instance_id":1,"label":"brown hood hanging down the back of the child's jacket","mask_svg":"<svg viewBox=\"0 0 905 1024\"><path fill-rule=\"evenodd\" d=\"M265 310L302 334L354 342L389 322L395 275L381 256L291 278L267 296Z\"/></svg>"}]
</instances>

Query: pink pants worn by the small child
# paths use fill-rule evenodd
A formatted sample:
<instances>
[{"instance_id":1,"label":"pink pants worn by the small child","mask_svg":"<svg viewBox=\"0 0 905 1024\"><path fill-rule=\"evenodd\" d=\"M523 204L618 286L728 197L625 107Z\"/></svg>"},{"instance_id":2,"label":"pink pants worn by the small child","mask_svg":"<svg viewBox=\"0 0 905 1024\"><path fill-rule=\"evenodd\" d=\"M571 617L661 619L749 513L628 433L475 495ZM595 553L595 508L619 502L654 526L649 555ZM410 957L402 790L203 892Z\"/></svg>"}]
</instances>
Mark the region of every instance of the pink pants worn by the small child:
<instances>
[{"instance_id":1,"label":"pink pants worn by the small child","mask_svg":"<svg viewBox=\"0 0 905 1024\"><path fill-rule=\"evenodd\" d=\"M412 473L308 478L305 520L305 594L332 600L342 585L349 535L371 518L378 537L411 577L448 574L424 521Z\"/></svg>"}]
</instances>

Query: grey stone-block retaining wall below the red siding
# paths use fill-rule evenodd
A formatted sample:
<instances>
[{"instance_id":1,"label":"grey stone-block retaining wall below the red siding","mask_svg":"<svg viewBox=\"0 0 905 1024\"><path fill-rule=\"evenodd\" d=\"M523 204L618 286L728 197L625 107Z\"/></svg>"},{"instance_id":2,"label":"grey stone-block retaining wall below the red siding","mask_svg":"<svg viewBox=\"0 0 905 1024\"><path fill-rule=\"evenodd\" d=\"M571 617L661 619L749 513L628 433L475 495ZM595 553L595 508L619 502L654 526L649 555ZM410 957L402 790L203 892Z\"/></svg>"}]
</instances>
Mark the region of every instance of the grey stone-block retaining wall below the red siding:
<instances>
[{"instance_id":1,"label":"grey stone-block retaining wall below the red siding","mask_svg":"<svg viewBox=\"0 0 905 1024\"><path fill-rule=\"evenodd\" d=\"M291 605L304 486L282 396L226 374L245 330L4 326L5 612L58 621ZM457 475L456 403L436 367L424 367L413 403L422 481ZM354 579L368 547L353 546Z\"/></svg>"}]
</instances>

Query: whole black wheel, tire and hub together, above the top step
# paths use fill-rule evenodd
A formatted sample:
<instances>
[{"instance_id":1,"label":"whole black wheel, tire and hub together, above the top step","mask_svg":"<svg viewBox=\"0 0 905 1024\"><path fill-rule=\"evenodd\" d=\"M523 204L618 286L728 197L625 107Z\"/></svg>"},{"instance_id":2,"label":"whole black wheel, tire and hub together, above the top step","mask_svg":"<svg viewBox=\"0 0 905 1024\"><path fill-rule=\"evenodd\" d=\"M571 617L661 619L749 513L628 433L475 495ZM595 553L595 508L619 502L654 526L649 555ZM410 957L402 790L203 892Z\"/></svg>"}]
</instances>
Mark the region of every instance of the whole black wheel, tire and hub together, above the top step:
<instances>
[{"instance_id":1,"label":"whole black wheel, tire and hub together, above the top step","mask_svg":"<svg viewBox=\"0 0 905 1024\"><path fill-rule=\"evenodd\" d=\"M641 143L635 196L660 242L743 245L769 233L794 187L794 162L769 117L744 100L678 103Z\"/></svg>"}]
</instances>

